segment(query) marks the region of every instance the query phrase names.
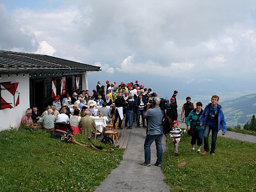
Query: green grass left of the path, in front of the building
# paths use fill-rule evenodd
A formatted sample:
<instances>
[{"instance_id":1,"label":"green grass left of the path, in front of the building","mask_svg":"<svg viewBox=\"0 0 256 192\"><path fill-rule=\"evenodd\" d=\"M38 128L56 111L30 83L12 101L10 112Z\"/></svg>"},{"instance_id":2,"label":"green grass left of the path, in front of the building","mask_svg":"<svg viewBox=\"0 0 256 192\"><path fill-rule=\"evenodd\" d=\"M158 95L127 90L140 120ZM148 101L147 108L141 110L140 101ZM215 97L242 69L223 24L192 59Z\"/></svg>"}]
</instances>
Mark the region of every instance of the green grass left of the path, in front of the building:
<instances>
[{"instance_id":1,"label":"green grass left of the path, in front of the building","mask_svg":"<svg viewBox=\"0 0 256 192\"><path fill-rule=\"evenodd\" d=\"M76 140L90 144L81 134ZM124 154L113 145L95 144L115 152L54 140L41 130L2 131L0 191L93 191Z\"/></svg>"}]
</instances>

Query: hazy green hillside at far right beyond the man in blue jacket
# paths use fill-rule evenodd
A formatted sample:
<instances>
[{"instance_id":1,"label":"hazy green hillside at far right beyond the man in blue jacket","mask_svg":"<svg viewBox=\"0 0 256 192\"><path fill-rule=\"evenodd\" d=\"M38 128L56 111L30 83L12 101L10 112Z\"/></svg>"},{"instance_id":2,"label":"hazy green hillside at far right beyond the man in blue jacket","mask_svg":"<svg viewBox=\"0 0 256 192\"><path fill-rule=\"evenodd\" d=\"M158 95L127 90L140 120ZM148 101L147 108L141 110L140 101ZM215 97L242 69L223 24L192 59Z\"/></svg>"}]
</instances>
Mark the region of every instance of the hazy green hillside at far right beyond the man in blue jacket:
<instances>
[{"instance_id":1,"label":"hazy green hillside at far right beyond the man in blue jacket","mask_svg":"<svg viewBox=\"0 0 256 192\"><path fill-rule=\"evenodd\" d=\"M256 94L244 95L221 102L227 125L243 125L256 114Z\"/></svg>"}]
</instances>

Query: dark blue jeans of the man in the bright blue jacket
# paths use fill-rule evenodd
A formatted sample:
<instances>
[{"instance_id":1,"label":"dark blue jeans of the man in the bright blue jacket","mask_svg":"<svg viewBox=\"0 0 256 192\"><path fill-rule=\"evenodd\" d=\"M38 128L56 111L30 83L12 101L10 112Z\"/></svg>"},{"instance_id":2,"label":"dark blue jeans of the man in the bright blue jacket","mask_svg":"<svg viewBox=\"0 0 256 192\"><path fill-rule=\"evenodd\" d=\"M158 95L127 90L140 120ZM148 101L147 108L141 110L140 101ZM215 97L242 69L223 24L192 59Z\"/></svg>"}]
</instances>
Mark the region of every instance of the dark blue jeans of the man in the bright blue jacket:
<instances>
[{"instance_id":1,"label":"dark blue jeans of the man in the bright blue jacket","mask_svg":"<svg viewBox=\"0 0 256 192\"><path fill-rule=\"evenodd\" d=\"M211 154L215 154L217 135L218 135L218 127L212 127L210 125L206 125L204 129L204 150L209 152L209 134L212 131L212 145L211 145Z\"/></svg>"}]
</instances>

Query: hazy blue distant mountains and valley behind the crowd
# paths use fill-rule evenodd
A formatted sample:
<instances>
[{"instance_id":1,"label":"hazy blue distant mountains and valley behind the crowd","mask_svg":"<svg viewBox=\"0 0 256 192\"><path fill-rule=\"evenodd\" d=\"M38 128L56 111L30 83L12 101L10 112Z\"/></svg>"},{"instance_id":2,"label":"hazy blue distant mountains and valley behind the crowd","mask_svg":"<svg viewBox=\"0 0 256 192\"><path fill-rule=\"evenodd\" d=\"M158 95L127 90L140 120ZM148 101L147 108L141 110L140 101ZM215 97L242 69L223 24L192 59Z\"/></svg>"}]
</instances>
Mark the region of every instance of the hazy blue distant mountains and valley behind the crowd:
<instances>
[{"instance_id":1,"label":"hazy blue distant mountains and valley behind the crowd","mask_svg":"<svg viewBox=\"0 0 256 192\"><path fill-rule=\"evenodd\" d=\"M88 74L90 92L96 88L97 81L101 81L106 85L109 82L121 81L124 83L135 82L135 80L143 84L146 88L152 87L159 97L172 97L173 91L178 90L178 114L182 108L182 104L186 102L186 97L190 96L191 101L203 103L203 108L211 102L212 95L220 96L220 105L223 107L228 126L244 125L252 119L252 115L256 114L256 84L251 79L243 79L242 77L169 77L152 76L150 74L125 74L124 72L116 72L109 74L106 72L97 72ZM253 94L252 94L253 93ZM244 96L242 96L244 95ZM180 118L180 116L178 117Z\"/></svg>"}]
</instances>

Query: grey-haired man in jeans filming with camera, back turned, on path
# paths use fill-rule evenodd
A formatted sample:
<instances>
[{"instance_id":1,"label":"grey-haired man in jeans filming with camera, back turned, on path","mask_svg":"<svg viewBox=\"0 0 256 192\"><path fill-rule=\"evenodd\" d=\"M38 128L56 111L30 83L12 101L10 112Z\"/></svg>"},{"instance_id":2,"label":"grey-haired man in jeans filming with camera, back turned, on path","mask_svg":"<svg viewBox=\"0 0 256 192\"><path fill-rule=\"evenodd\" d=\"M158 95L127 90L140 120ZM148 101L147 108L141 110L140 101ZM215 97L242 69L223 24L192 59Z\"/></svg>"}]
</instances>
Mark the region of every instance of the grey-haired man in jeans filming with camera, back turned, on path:
<instances>
[{"instance_id":1,"label":"grey-haired man in jeans filming with camera, back turned, on path","mask_svg":"<svg viewBox=\"0 0 256 192\"><path fill-rule=\"evenodd\" d=\"M157 150L157 161L156 166L161 166L163 159L163 147L162 147L162 138L163 138L163 110L159 107L160 104L159 97L153 97L152 104L147 104L147 110L145 113L145 118L147 118L147 136L144 143L144 152L145 152L145 162L142 164L144 166L150 166L150 145L153 141L156 142Z\"/></svg>"}]
</instances>

